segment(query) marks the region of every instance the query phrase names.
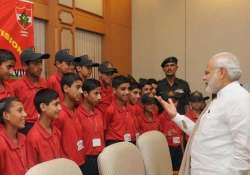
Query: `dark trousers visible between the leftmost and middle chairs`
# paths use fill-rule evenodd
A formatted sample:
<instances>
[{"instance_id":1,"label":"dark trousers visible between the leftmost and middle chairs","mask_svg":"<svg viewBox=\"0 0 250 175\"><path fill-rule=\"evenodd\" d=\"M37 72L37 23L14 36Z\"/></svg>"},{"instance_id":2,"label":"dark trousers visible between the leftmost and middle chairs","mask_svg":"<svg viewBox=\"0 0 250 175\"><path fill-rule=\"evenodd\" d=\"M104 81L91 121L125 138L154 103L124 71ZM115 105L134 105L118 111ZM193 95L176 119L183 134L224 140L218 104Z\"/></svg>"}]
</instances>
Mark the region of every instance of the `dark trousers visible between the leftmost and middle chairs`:
<instances>
[{"instance_id":1,"label":"dark trousers visible between the leftmost and middle chairs","mask_svg":"<svg viewBox=\"0 0 250 175\"><path fill-rule=\"evenodd\" d=\"M80 166L84 175L99 175L97 157L98 156L86 156L85 164Z\"/></svg>"}]
</instances>

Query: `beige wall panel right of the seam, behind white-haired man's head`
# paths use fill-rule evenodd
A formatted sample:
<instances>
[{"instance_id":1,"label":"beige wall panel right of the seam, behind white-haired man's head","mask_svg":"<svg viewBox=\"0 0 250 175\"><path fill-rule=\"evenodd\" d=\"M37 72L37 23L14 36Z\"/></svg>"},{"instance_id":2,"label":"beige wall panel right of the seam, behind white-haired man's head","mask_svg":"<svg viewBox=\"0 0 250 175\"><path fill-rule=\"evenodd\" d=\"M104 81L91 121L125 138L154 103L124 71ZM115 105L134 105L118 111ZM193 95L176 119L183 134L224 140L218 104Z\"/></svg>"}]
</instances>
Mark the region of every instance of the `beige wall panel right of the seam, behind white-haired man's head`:
<instances>
[{"instance_id":1,"label":"beige wall panel right of the seam, behind white-haired man's head","mask_svg":"<svg viewBox=\"0 0 250 175\"><path fill-rule=\"evenodd\" d=\"M250 3L246 0L187 1L187 79L192 88L204 87L206 61L230 51L238 56L242 82L250 82ZM195 73L193 73L193 71Z\"/></svg>"}]
</instances>

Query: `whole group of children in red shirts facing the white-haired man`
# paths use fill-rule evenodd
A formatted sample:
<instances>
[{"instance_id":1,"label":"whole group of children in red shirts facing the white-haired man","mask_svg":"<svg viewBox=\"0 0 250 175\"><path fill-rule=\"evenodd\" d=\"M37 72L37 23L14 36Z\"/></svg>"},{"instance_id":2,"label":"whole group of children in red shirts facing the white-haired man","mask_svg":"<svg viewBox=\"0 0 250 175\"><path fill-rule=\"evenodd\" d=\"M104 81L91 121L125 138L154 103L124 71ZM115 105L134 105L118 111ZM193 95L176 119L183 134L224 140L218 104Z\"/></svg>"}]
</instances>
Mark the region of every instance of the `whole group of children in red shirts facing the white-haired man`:
<instances>
[{"instance_id":1,"label":"whole group of children in red shirts facing the white-haired man","mask_svg":"<svg viewBox=\"0 0 250 175\"><path fill-rule=\"evenodd\" d=\"M166 135L178 169L187 138L157 105L156 80L138 83L117 74L109 62L74 57L67 49L56 53L57 71L45 80L42 60L49 57L25 49L21 54L25 75L10 82L15 56L0 49L0 174L23 175L38 163L66 157L85 175L97 175L97 157L105 146L136 143L150 130ZM90 78L93 67L98 67L99 80ZM177 94L169 93L168 98L178 103ZM199 92L191 94L190 119L197 120L205 100Z\"/></svg>"}]
</instances>

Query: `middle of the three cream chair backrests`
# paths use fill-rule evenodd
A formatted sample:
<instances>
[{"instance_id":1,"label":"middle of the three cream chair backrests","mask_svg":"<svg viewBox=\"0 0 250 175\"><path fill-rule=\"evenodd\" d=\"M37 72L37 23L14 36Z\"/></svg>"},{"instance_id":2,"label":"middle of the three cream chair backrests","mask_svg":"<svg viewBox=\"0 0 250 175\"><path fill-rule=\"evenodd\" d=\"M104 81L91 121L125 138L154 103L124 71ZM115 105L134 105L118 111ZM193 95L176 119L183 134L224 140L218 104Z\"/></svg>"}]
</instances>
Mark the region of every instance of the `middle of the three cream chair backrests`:
<instances>
[{"instance_id":1,"label":"middle of the three cream chair backrests","mask_svg":"<svg viewBox=\"0 0 250 175\"><path fill-rule=\"evenodd\" d=\"M145 175L142 155L129 142L106 147L98 156L98 168L100 175Z\"/></svg>"}]
</instances>

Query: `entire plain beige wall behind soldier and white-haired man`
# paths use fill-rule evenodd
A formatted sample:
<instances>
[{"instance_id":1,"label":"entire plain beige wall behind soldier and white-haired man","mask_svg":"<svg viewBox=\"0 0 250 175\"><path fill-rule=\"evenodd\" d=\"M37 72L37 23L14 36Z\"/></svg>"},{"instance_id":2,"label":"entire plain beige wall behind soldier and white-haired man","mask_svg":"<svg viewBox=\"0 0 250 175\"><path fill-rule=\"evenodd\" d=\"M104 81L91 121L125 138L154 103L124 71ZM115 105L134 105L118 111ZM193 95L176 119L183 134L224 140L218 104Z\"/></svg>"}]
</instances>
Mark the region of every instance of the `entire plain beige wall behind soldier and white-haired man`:
<instances>
[{"instance_id":1,"label":"entire plain beige wall behind soldier and white-haired man","mask_svg":"<svg viewBox=\"0 0 250 175\"><path fill-rule=\"evenodd\" d=\"M230 51L241 61L241 81L250 82L249 9L246 0L134 0L133 74L159 78L161 60L175 55L178 76L203 91L208 58Z\"/></svg>"}]
</instances>

